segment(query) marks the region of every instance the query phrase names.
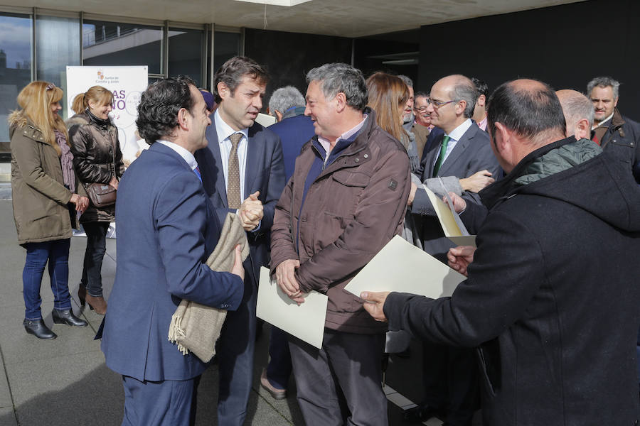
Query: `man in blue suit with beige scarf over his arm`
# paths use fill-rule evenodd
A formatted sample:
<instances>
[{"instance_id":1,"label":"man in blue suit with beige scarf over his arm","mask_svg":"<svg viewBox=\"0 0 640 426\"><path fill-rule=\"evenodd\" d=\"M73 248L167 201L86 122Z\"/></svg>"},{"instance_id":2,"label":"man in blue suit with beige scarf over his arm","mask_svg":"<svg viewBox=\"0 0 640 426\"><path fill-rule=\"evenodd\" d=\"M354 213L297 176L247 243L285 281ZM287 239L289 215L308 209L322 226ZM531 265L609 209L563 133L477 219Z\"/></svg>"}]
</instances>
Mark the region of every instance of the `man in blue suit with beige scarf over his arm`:
<instances>
[{"instance_id":1,"label":"man in blue suit with beige scarf over his arm","mask_svg":"<svg viewBox=\"0 0 640 426\"><path fill-rule=\"evenodd\" d=\"M193 157L206 147L210 124L193 81L151 84L136 124L151 148L118 187L117 270L102 351L107 366L122 374L122 425L189 425L206 364L169 342L171 315L182 299L237 309L244 269L239 248L232 273L211 271L205 263L221 226Z\"/></svg>"}]
</instances>

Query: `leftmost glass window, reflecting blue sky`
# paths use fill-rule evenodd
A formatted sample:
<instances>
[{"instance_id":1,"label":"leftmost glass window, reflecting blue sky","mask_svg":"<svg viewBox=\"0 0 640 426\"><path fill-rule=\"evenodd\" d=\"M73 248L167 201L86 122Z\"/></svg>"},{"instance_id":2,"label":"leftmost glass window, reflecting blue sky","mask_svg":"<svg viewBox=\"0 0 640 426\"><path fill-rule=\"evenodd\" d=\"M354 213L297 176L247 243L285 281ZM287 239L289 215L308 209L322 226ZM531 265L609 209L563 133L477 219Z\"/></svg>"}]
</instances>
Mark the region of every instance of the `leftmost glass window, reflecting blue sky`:
<instances>
[{"instance_id":1,"label":"leftmost glass window, reflecting blue sky","mask_svg":"<svg viewBox=\"0 0 640 426\"><path fill-rule=\"evenodd\" d=\"M9 112L18 108L18 92L31 82L31 17L0 15L0 144L9 142ZM9 151L9 144L0 146Z\"/></svg>"}]
</instances>

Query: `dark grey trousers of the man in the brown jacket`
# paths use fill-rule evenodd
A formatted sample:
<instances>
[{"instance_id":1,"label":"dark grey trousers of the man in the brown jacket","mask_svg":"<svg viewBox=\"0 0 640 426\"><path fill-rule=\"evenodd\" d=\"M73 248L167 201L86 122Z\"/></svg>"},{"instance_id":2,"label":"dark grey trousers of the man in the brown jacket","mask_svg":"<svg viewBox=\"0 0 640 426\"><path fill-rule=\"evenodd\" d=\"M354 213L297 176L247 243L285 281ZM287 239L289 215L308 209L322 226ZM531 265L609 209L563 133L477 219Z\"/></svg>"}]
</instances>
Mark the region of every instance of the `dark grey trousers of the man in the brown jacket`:
<instances>
[{"instance_id":1,"label":"dark grey trousers of the man in the brown jacket","mask_svg":"<svg viewBox=\"0 0 640 426\"><path fill-rule=\"evenodd\" d=\"M385 334L324 331L322 349L290 337L297 399L309 426L388 426Z\"/></svg>"}]
</instances>

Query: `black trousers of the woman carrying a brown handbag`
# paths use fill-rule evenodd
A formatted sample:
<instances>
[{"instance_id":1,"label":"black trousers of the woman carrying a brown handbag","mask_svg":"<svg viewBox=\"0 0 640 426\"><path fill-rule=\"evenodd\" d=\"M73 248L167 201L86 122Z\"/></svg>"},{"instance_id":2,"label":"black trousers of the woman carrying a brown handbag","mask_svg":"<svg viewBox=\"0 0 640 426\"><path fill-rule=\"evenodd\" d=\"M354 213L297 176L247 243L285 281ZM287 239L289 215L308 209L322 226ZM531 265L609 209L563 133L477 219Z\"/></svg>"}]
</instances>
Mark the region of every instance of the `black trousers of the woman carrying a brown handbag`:
<instances>
[{"instance_id":1,"label":"black trousers of the woman carrying a brown handbag","mask_svg":"<svg viewBox=\"0 0 640 426\"><path fill-rule=\"evenodd\" d=\"M93 297L102 296L102 259L107 251L109 222L87 222L82 224L87 233L87 249L82 266L82 285Z\"/></svg>"}]
</instances>

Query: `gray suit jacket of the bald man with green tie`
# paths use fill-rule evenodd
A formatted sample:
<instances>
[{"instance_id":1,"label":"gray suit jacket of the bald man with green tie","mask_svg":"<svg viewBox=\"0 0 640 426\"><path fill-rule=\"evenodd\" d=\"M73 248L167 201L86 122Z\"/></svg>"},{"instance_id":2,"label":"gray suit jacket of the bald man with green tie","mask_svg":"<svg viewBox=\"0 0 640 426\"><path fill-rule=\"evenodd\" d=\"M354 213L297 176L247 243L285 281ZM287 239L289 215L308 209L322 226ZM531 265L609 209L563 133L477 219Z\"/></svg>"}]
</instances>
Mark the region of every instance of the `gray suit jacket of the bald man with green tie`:
<instances>
[{"instance_id":1,"label":"gray suit jacket of the bald man with green tie","mask_svg":"<svg viewBox=\"0 0 640 426\"><path fill-rule=\"evenodd\" d=\"M425 151L423 155L422 164L424 165L424 170L420 179L422 182L432 178L434 163L440 153L443 138L444 131L439 133L429 151ZM447 155L438 170L438 176L469 178L469 176L484 169L489 170L496 180L502 175L498 160L493 151L491 151L489 134L480 129L474 122ZM467 203L481 204L479 195L473 192L465 192L464 199ZM439 224L435 210L425 190L419 188L415 192L411 212L422 216L422 246L425 251L446 263L447 251L449 251L450 247L454 247L455 244L444 237L442 226Z\"/></svg>"}]
</instances>

